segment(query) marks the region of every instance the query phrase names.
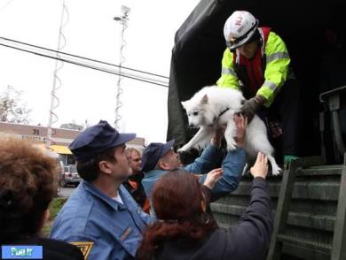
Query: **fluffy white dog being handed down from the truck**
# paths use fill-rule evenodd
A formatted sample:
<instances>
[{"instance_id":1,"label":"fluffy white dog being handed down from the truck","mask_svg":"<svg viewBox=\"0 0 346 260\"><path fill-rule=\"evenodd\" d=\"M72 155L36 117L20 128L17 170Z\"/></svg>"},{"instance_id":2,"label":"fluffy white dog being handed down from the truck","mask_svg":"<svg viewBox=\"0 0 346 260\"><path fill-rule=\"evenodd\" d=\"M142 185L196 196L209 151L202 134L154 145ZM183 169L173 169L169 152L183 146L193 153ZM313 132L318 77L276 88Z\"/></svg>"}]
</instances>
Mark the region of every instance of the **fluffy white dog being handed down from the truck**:
<instances>
[{"instance_id":1,"label":"fluffy white dog being handed down from the truck","mask_svg":"<svg viewBox=\"0 0 346 260\"><path fill-rule=\"evenodd\" d=\"M181 149L178 149L178 152L206 147L218 126L226 126L224 139L227 142L227 149L236 149L236 142L234 141L236 127L233 121L233 114L240 112L244 101L245 98L239 90L205 87L190 100L182 102L189 120L189 126L201 128L191 141L187 142ZM273 175L278 175L281 171L275 158L272 157L274 149L268 140L264 123L256 115L248 124L245 150L250 158L255 158L259 151L263 152L271 162Z\"/></svg>"}]
</instances>

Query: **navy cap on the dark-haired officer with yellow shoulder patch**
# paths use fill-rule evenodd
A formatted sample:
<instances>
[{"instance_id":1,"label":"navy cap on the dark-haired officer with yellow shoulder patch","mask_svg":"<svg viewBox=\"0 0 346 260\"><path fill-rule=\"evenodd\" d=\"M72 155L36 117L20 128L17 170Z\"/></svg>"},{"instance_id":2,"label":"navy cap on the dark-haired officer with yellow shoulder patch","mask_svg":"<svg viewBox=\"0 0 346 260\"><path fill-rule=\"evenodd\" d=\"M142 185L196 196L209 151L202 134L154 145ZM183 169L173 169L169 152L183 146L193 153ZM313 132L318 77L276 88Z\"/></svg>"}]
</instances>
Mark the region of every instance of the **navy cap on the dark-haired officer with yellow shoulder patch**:
<instances>
[{"instance_id":1,"label":"navy cap on the dark-haired officer with yellow shoulder patch","mask_svg":"<svg viewBox=\"0 0 346 260\"><path fill-rule=\"evenodd\" d=\"M77 162L90 160L99 153L112 149L136 137L136 134L119 134L107 121L86 128L68 146Z\"/></svg>"}]
</instances>

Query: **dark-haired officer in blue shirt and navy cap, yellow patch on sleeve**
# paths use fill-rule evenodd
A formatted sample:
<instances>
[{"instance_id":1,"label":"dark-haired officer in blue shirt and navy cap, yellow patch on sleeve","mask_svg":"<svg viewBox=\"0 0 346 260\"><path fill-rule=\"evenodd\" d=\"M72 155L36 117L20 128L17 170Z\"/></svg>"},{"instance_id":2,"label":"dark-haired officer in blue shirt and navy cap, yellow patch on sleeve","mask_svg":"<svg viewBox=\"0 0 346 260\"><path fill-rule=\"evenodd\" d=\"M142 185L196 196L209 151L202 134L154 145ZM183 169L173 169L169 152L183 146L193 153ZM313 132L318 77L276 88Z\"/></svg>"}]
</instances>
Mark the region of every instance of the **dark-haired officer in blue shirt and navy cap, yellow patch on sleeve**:
<instances>
[{"instance_id":1,"label":"dark-haired officer in blue shirt and navy cap, yellow patch on sleeve","mask_svg":"<svg viewBox=\"0 0 346 260\"><path fill-rule=\"evenodd\" d=\"M83 181L60 210L51 238L77 245L87 259L135 257L153 221L122 186L130 175L125 143L135 137L101 120L70 144Z\"/></svg>"}]
</instances>

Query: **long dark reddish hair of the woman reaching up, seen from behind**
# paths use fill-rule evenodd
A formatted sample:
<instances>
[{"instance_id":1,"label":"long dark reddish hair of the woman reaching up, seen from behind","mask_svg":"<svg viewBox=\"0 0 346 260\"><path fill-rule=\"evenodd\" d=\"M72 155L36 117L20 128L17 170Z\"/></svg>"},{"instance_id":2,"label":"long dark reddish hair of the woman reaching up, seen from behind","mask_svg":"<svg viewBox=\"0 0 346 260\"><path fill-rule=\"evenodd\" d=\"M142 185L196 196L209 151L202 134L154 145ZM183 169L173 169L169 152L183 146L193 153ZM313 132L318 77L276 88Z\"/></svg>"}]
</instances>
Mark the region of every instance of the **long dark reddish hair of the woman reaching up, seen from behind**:
<instances>
[{"instance_id":1,"label":"long dark reddish hair of the woman reaching up, seen from behind","mask_svg":"<svg viewBox=\"0 0 346 260\"><path fill-rule=\"evenodd\" d=\"M153 187L153 209L159 221L145 231L138 259L152 259L165 241L199 241L215 231L215 220L201 208L203 199L201 183L192 173L177 169L163 175Z\"/></svg>"}]
</instances>

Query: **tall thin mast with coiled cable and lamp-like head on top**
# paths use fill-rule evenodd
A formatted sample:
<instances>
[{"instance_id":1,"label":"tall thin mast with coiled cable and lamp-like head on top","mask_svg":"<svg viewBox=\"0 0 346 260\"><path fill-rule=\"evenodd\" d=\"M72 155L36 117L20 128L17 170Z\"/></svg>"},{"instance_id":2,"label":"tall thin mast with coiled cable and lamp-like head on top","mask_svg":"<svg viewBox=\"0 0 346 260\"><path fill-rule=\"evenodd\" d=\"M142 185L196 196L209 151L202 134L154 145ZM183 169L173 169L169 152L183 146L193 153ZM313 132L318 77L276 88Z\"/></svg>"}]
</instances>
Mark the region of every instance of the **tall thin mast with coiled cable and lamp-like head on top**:
<instances>
[{"instance_id":1,"label":"tall thin mast with coiled cable and lamp-like head on top","mask_svg":"<svg viewBox=\"0 0 346 260\"><path fill-rule=\"evenodd\" d=\"M118 82L116 84L115 120L114 120L114 126L118 130L120 127L119 125L120 120L122 119L122 117L120 116L120 108L122 107L120 96L122 95L122 64L125 62L125 57L123 55L123 49L126 46L124 33L126 28L128 27L130 8L125 5L122 5L121 11L122 11L122 16L114 17L114 20L118 21L122 25L122 34L121 34L122 44L120 47L119 76L118 76Z\"/></svg>"}]
</instances>

